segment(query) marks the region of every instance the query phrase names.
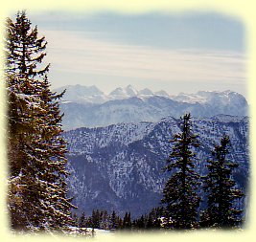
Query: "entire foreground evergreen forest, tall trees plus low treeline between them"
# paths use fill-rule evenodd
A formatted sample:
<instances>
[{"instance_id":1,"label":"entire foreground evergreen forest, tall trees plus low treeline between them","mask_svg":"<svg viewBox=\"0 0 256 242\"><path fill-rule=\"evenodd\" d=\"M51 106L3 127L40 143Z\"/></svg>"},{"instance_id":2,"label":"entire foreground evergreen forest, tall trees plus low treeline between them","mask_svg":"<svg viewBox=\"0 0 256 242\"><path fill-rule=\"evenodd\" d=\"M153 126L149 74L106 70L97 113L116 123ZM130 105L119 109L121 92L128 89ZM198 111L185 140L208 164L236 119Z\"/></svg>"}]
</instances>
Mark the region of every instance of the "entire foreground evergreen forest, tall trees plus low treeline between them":
<instances>
[{"instance_id":1,"label":"entire foreground evergreen forest, tall trees plus low treeline between them","mask_svg":"<svg viewBox=\"0 0 256 242\"><path fill-rule=\"evenodd\" d=\"M60 43L61 44L61 43ZM207 175L195 171L198 135L190 114L180 118L180 133L170 141L172 149L163 172L170 172L158 208L131 218L95 208L92 214L76 214L67 196L67 147L61 134L58 100L64 92L51 91L50 64L44 65L47 41L39 37L25 11L7 18L5 81L8 101L8 209L12 231L70 231L93 228L110 231L191 230L241 228L243 209L237 201L244 193L232 177L238 167L227 159L231 145L223 136L207 161ZM168 115L168 114L167 114ZM201 190L206 197L204 207Z\"/></svg>"}]
</instances>

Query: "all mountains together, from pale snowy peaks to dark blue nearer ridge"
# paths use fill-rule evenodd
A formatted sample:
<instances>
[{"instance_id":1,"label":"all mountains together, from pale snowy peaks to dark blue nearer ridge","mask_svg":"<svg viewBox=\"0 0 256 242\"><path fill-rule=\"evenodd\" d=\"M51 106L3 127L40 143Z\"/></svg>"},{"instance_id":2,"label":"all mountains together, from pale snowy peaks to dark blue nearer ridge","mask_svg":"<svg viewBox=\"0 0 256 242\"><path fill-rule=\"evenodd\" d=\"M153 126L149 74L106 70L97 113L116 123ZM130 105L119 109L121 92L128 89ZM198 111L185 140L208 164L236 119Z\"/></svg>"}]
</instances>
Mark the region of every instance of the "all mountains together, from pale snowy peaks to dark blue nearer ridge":
<instances>
[{"instance_id":1,"label":"all mountains together, from pale snowy peaks to dark blue nearer ridge","mask_svg":"<svg viewBox=\"0 0 256 242\"><path fill-rule=\"evenodd\" d=\"M116 88L108 95L96 86L66 86L60 102L69 153L68 186L77 212L115 209L133 217L159 205L171 152L180 132L178 118L190 112L199 135L197 169L221 136L230 136L229 158L239 163L235 179L245 189L249 174L248 104L232 91L169 96L165 91ZM203 192L202 192L203 193ZM244 203L243 201L241 203Z\"/></svg>"}]
</instances>

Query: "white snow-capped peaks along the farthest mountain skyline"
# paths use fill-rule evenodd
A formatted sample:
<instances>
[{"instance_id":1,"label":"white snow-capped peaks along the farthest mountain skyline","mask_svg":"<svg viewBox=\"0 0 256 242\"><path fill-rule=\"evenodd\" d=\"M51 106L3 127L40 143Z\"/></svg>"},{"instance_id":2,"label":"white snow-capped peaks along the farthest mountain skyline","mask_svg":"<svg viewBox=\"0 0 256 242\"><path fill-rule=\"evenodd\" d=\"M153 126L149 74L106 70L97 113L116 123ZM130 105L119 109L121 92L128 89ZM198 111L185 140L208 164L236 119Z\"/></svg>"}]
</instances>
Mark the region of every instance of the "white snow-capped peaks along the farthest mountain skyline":
<instances>
[{"instance_id":1,"label":"white snow-capped peaks along the farthest mountain skyline","mask_svg":"<svg viewBox=\"0 0 256 242\"><path fill-rule=\"evenodd\" d=\"M82 86L82 85L68 85L55 89L56 92L62 92L66 89L66 93L62 100L74 102L90 102L90 103L104 103L108 100L114 99L129 99L132 97L147 99L154 96L165 97L179 102L187 103L221 103L229 104L236 102L237 104L246 103L244 97L236 92L227 91L198 91L196 94L180 93L177 96L170 96L166 91L160 90L152 92L149 88L137 90L131 85L127 87L118 87L106 95L95 85Z\"/></svg>"}]
</instances>

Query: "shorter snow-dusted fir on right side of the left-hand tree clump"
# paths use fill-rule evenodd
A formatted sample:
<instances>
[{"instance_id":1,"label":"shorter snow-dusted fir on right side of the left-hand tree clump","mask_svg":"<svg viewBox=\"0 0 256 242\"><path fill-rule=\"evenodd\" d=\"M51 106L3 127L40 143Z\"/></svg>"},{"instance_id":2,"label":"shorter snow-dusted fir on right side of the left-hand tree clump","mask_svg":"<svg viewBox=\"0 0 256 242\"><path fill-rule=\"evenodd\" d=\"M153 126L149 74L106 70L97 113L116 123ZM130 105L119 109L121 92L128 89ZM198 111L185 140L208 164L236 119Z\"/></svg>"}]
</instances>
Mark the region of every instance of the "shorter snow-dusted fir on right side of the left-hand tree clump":
<instances>
[{"instance_id":1,"label":"shorter snow-dusted fir on right side of the left-hand tree clump","mask_svg":"<svg viewBox=\"0 0 256 242\"><path fill-rule=\"evenodd\" d=\"M40 114L43 120L40 126L39 136L36 139L36 155L39 155L41 170L38 175L38 180L42 181L47 190L47 195L44 199L44 208L47 209L48 217L51 218L51 223L48 225L54 228L63 228L70 224L70 212L73 207L71 199L66 197L67 184L65 178L68 173L65 169L67 159L65 157L66 143L61 138L63 132L61 128L61 119L58 99L62 96L56 95L50 91L50 84L47 77L41 82L42 90L40 92L41 107L44 110Z\"/></svg>"}]
</instances>

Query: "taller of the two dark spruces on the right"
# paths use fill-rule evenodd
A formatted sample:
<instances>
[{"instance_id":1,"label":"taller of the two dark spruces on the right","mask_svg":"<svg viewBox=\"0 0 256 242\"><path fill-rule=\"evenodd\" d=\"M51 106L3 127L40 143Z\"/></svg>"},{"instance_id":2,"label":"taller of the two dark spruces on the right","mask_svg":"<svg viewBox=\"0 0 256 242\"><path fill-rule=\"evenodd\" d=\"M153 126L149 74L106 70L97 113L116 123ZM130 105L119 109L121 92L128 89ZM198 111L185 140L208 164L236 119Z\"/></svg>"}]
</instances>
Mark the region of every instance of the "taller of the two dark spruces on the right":
<instances>
[{"instance_id":1,"label":"taller of the two dark spruces on the right","mask_svg":"<svg viewBox=\"0 0 256 242\"><path fill-rule=\"evenodd\" d=\"M198 147L197 136L192 132L190 114L180 118L181 133L175 134L171 141L173 151L166 170L172 172L163 189L162 203L165 205L165 227L173 229L192 229L197 226L198 173L195 171L196 155L193 147Z\"/></svg>"}]
</instances>

